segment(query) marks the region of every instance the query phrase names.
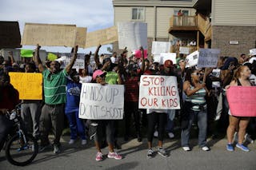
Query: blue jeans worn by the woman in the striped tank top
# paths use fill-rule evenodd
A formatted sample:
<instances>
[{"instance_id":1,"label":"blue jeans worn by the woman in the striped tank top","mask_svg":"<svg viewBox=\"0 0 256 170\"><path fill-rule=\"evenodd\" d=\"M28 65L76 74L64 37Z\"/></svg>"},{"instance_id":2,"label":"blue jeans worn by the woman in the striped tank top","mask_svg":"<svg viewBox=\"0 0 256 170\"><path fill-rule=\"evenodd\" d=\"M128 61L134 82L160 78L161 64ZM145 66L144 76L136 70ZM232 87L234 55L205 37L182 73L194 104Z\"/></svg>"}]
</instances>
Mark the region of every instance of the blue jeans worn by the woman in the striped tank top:
<instances>
[{"instance_id":1,"label":"blue jeans worn by the woman in the striped tank top","mask_svg":"<svg viewBox=\"0 0 256 170\"><path fill-rule=\"evenodd\" d=\"M182 130L182 147L189 146L190 130L194 119L198 121L198 145L199 147L206 146L206 133L207 133L207 113L205 111L191 111L189 115L189 125Z\"/></svg>"}]
</instances>

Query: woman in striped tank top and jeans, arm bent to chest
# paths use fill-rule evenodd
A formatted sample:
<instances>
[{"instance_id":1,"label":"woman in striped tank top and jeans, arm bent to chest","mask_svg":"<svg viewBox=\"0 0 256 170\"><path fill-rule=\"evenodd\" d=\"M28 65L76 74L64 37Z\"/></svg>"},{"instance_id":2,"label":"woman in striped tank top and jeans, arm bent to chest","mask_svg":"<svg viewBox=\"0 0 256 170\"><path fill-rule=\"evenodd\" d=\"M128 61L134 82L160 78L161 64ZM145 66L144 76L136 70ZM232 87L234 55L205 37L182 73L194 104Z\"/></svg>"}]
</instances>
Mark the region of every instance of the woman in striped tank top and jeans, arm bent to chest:
<instances>
[{"instance_id":1,"label":"woman in striped tank top and jeans, arm bent to chest","mask_svg":"<svg viewBox=\"0 0 256 170\"><path fill-rule=\"evenodd\" d=\"M189 139L192 123L196 119L198 122L198 145L203 151L209 151L206 146L207 113L206 95L209 94L206 84L200 81L200 72L197 69L186 71L183 91L186 93L184 103L184 114L182 115L182 148L190 151Z\"/></svg>"}]
</instances>

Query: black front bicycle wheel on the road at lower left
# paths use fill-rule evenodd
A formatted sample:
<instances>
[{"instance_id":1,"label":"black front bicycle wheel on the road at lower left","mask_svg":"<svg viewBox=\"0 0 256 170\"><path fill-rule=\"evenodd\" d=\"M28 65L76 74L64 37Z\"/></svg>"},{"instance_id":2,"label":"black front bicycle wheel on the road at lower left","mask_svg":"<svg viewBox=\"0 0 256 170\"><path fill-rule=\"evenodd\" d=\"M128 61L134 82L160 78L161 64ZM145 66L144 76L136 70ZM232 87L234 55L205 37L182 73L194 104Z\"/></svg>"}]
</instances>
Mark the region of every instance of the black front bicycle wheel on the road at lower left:
<instances>
[{"instance_id":1,"label":"black front bicycle wheel on the road at lower left","mask_svg":"<svg viewBox=\"0 0 256 170\"><path fill-rule=\"evenodd\" d=\"M10 164L25 166L30 164L38 154L38 141L33 136L26 136L26 143L17 134L6 144L6 159Z\"/></svg>"}]
</instances>

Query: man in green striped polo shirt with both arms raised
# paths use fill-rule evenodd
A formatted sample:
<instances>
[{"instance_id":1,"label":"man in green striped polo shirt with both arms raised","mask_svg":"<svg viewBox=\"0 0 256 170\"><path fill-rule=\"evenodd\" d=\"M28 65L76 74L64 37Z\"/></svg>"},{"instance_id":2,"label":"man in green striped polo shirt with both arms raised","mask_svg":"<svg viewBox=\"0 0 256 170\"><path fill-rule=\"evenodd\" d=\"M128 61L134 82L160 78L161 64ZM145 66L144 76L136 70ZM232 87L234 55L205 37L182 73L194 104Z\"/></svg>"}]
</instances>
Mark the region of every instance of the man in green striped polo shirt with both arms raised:
<instances>
[{"instance_id":1,"label":"man in green striped polo shirt with both arms raised","mask_svg":"<svg viewBox=\"0 0 256 170\"><path fill-rule=\"evenodd\" d=\"M35 63L42 66L39 58L40 46L37 46ZM54 153L60 152L60 137L64 124L64 109L66 103L66 76L70 73L77 58L78 46L74 47L73 57L65 69L60 69L58 61L46 63L47 69L42 72L45 105L42 106L40 117L40 139L41 151L50 144L48 135L53 128L54 132Z\"/></svg>"}]
</instances>

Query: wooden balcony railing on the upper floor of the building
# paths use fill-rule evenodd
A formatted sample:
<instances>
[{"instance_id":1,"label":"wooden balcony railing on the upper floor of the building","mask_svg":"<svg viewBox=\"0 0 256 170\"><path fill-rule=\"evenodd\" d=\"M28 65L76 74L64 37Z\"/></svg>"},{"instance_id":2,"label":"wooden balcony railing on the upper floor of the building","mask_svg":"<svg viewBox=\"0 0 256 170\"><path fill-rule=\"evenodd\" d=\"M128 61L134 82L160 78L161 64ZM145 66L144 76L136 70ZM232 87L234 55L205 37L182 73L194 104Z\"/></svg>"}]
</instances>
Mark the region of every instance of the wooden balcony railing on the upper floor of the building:
<instances>
[{"instance_id":1,"label":"wooden balcony railing on the upper floor of the building","mask_svg":"<svg viewBox=\"0 0 256 170\"><path fill-rule=\"evenodd\" d=\"M174 15L170 18L170 26L198 26L196 16L177 16Z\"/></svg>"}]
</instances>

